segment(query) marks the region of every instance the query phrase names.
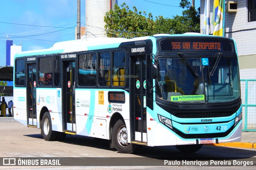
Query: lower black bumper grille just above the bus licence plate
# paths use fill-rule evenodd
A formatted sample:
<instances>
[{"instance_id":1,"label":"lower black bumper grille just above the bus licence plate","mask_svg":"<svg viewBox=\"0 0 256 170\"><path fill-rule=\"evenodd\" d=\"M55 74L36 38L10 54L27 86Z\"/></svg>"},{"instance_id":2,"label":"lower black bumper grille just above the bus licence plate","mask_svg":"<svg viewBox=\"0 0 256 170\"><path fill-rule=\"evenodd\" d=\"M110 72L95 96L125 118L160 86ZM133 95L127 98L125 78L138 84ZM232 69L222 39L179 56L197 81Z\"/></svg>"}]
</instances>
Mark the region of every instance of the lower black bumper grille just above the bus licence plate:
<instances>
[{"instance_id":1,"label":"lower black bumper grille just above the bus licence plate","mask_svg":"<svg viewBox=\"0 0 256 170\"><path fill-rule=\"evenodd\" d=\"M184 138L184 139L222 138L222 137L228 136L228 134L230 134L233 128L234 126L228 129L226 132L222 132L222 133L204 133L204 134L184 134L179 130L177 130L176 128L173 128L173 131L176 134L178 134L181 138Z\"/></svg>"}]
</instances>

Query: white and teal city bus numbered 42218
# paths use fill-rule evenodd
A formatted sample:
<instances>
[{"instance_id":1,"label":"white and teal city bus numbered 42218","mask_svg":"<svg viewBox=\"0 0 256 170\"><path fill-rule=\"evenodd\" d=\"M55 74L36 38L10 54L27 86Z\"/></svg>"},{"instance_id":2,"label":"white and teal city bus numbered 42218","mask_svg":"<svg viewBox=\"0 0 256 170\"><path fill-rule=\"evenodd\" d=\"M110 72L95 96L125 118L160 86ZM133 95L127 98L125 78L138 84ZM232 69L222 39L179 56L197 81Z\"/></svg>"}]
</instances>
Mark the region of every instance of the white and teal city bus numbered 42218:
<instances>
[{"instance_id":1,"label":"white and teal city bus numbered 42218","mask_svg":"<svg viewBox=\"0 0 256 170\"><path fill-rule=\"evenodd\" d=\"M17 53L14 119L41 129L138 146L237 142L242 105L236 43L196 34L58 42Z\"/></svg>"}]
</instances>

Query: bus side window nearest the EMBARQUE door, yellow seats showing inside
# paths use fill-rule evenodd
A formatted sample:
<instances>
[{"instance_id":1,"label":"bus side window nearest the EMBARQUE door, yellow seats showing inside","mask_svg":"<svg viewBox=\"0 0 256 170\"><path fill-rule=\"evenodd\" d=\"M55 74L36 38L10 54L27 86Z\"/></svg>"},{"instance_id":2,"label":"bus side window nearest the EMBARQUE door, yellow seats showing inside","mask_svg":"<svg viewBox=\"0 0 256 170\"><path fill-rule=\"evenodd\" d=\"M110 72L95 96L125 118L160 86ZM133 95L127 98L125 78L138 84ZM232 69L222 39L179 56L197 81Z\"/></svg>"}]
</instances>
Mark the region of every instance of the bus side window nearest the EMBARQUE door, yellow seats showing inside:
<instances>
[{"instance_id":1,"label":"bus side window nearest the EMBARQUE door, yellow seats showing inside","mask_svg":"<svg viewBox=\"0 0 256 170\"><path fill-rule=\"evenodd\" d=\"M125 51L116 51L113 55L113 86L124 86L125 83Z\"/></svg>"}]
</instances>

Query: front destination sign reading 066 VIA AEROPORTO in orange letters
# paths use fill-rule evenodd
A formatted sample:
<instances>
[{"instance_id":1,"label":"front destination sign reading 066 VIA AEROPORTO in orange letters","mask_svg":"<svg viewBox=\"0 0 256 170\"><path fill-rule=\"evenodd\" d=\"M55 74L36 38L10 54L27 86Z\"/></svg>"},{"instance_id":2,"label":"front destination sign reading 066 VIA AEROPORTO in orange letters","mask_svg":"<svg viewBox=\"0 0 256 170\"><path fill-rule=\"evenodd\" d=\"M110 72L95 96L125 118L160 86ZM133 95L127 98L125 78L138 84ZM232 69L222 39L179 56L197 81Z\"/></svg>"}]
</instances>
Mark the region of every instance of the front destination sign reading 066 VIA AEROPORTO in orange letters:
<instances>
[{"instance_id":1,"label":"front destination sign reading 066 VIA AEROPORTO in orange letters","mask_svg":"<svg viewBox=\"0 0 256 170\"><path fill-rule=\"evenodd\" d=\"M232 44L219 39L165 39L160 41L162 51L232 51Z\"/></svg>"}]
</instances>

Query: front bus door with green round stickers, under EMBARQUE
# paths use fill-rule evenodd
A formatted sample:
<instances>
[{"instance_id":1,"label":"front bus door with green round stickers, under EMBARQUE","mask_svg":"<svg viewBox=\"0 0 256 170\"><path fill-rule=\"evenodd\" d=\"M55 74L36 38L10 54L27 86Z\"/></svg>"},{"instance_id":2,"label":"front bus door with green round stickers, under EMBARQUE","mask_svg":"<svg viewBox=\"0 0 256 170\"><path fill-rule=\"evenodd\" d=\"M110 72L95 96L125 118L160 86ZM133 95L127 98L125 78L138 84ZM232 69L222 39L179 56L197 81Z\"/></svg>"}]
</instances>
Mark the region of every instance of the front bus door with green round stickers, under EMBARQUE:
<instances>
[{"instance_id":1,"label":"front bus door with green round stickers, under EMBARQUE","mask_svg":"<svg viewBox=\"0 0 256 170\"><path fill-rule=\"evenodd\" d=\"M131 57L131 106L134 115L135 142L147 142L146 124L146 56ZM132 130L132 131L134 131Z\"/></svg>"}]
</instances>

